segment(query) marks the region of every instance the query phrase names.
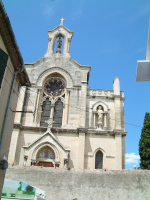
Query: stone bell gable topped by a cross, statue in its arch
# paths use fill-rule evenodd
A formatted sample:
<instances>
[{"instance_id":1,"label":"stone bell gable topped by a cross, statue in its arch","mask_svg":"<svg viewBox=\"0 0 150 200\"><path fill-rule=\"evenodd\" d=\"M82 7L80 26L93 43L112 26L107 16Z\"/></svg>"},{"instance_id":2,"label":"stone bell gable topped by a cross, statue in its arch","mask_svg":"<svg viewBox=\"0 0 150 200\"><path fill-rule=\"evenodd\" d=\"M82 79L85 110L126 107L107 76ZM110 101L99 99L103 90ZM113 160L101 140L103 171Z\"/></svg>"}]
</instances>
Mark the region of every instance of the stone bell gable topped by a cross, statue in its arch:
<instances>
[{"instance_id":1,"label":"stone bell gable topped by a cross, statue in its arch","mask_svg":"<svg viewBox=\"0 0 150 200\"><path fill-rule=\"evenodd\" d=\"M64 25L64 19L60 19L61 23L53 30L48 31L48 49L45 57L52 56L54 54L64 55L70 57L70 44L73 37L73 31L67 29ZM64 40L64 43L62 42ZM57 48L55 51L55 43L57 42Z\"/></svg>"}]
</instances>

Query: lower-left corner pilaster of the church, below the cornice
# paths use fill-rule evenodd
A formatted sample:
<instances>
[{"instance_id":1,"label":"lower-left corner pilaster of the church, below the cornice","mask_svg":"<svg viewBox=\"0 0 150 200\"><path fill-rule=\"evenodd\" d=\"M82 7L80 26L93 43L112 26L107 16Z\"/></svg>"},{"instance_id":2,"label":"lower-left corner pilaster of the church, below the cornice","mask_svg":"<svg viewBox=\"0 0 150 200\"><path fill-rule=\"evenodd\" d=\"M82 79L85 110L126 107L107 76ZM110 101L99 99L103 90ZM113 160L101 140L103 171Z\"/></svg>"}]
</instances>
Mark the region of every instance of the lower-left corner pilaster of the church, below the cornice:
<instances>
[{"instance_id":1,"label":"lower-left corner pilaster of the church, below the cornice","mask_svg":"<svg viewBox=\"0 0 150 200\"><path fill-rule=\"evenodd\" d=\"M18 144L18 138L20 134L20 129L14 128L11 136L11 143L10 143L10 150L9 150L9 156L8 156L8 163L10 165L15 164L15 156L16 156L16 149Z\"/></svg>"}]
</instances>

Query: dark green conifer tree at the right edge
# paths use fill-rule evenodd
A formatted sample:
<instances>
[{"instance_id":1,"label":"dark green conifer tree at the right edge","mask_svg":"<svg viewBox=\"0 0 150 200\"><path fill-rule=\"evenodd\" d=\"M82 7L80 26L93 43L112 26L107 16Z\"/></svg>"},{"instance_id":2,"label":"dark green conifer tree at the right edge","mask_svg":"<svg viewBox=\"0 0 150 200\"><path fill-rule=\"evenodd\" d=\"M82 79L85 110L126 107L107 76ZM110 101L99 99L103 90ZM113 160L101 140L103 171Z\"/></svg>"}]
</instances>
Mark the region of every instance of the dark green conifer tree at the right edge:
<instances>
[{"instance_id":1,"label":"dark green conifer tree at the right edge","mask_svg":"<svg viewBox=\"0 0 150 200\"><path fill-rule=\"evenodd\" d=\"M150 113L145 113L144 125L139 141L140 167L150 169Z\"/></svg>"}]
</instances>

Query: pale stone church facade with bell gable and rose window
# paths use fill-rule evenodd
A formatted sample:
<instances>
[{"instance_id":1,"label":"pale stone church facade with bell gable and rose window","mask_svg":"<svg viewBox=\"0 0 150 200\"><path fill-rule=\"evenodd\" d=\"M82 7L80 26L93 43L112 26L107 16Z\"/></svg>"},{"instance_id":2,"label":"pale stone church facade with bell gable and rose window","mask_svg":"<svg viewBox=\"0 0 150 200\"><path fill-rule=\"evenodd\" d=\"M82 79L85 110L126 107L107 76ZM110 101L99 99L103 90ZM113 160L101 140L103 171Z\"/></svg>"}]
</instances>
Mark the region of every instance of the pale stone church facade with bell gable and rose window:
<instances>
[{"instance_id":1,"label":"pale stone church facade with bell gable and rose window","mask_svg":"<svg viewBox=\"0 0 150 200\"><path fill-rule=\"evenodd\" d=\"M48 31L43 58L25 64L9 153L11 165L76 169L125 168L124 92L90 89L91 67L70 55L73 32Z\"/></svg>"}]
</instances>

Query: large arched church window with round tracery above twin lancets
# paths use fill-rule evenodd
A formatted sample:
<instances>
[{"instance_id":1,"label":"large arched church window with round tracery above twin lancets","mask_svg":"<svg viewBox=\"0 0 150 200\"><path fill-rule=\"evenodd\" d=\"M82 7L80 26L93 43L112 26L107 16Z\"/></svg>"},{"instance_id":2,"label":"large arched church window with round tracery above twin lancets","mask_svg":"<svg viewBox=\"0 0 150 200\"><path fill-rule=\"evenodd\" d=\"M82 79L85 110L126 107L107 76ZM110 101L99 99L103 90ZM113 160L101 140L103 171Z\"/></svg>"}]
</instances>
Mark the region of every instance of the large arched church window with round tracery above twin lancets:
<instances>
[{"instance_id":1,"label":"large arched church window with round tracery above twin lancets","mask_svg":"<svg viewBox=\"0 0 150 200\"><path fill-rule=\"evenodd\" d=\"M53 127L61 127L63 116L63 102L65 99L66 83L61 76L49 77L43 85L43 105L41 114L41 126L47 126L46 120L51 118ZM46 99L46 100L45 100Z\"/></svg>"}]
</instances>

